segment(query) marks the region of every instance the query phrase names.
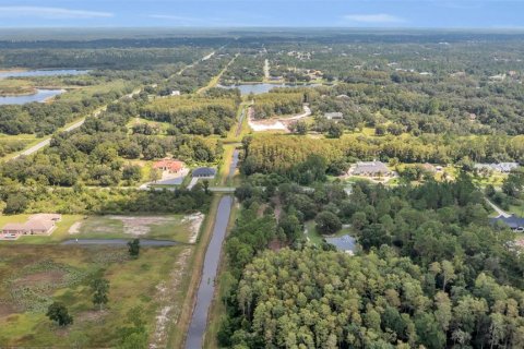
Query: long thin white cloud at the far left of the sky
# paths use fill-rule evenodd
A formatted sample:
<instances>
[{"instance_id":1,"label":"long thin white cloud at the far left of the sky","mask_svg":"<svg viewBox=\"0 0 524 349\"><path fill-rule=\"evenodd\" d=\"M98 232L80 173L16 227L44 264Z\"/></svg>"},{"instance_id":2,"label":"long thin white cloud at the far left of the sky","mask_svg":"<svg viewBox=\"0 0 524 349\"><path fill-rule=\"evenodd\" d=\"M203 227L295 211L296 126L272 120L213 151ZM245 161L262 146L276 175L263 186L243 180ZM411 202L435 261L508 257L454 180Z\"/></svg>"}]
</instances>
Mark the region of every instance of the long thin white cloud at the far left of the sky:
<instances>
[{"instance_id":1,"label":"long thin white cloud at the far left of the sky","mask_svg":"<svg viewBox=\"0 0 524 349\"><path fill-rule=\"evenodd\" d=\"M0 19L44 19L44 20L64 20L64 19L107 19L112 17L109 12L70 10L61 8L46 7L0 7Z\"/></svg>"}]
</instances>

